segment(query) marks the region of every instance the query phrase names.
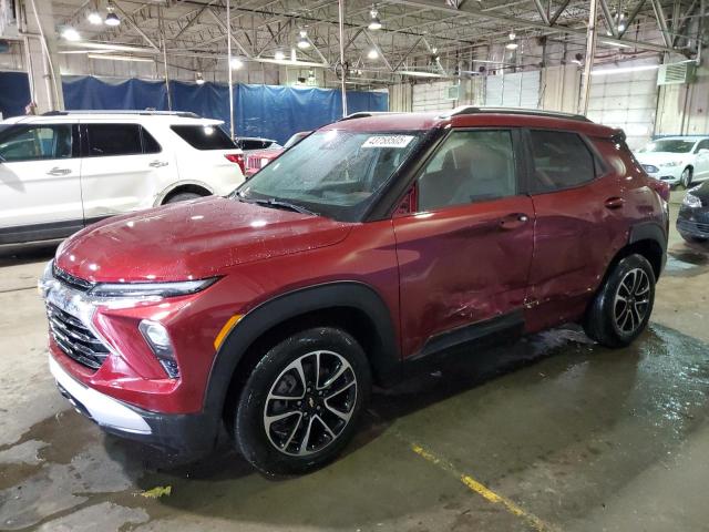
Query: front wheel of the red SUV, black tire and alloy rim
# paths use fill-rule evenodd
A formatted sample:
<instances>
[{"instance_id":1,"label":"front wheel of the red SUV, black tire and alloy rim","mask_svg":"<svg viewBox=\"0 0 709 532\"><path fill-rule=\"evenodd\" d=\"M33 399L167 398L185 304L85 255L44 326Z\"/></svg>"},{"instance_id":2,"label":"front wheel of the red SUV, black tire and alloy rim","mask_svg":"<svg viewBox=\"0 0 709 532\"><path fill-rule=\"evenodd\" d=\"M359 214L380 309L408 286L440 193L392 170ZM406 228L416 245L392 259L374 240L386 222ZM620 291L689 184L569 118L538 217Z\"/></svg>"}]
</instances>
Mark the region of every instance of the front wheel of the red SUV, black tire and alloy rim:
<instances>
[{"instance_id":1,"label":"front wheel of the red SUV, black tire and alloy rim","mask_svg":"<svg viewBox=\"0 0 709 532\"><path fill-rule=\"evenodd\" d=\"M319 379L315 377L316 362ZM340 370L329 386L323 386ZM310 386L302 386L301 398L300 376ZM336 392L340 389L343 391ZM331 393L330 399L322 397L326 391ZM274 399L271 392L292 399ZM295 334L265 352L246 381L235 412L237 447L247 461L268 475L312 471L332 461L352 438L370 392L369 362L352 336L331 327ZM336 416L333 409L340 415ZM274 421L284 413L285 418ZM306 432L308 427L310 432ZM305 454L300 456L304 440Z\"/></svg>"}]
</instances>

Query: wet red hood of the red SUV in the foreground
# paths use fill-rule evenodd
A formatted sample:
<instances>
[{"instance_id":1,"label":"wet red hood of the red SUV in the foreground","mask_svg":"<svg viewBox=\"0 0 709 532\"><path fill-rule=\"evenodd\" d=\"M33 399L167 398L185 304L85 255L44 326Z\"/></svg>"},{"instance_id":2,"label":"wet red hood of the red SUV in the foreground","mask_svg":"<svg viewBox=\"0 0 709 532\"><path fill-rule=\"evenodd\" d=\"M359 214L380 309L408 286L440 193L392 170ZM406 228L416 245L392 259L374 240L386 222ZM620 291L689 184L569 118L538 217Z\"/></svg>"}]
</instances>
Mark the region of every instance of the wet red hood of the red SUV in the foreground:
<instances>
[{"instance_id":1,"label":"wet red hood of the red SUV in the foreground","mask_svg":"<svg viewBox=\"0 0 709 532\"><path fill-rule=\"evenodd\" d=\"M210 197L107 218L60 247L56 265L91 282L206 278L243 263L341 242L350 225Z\"/></svg>"}]
</instances>

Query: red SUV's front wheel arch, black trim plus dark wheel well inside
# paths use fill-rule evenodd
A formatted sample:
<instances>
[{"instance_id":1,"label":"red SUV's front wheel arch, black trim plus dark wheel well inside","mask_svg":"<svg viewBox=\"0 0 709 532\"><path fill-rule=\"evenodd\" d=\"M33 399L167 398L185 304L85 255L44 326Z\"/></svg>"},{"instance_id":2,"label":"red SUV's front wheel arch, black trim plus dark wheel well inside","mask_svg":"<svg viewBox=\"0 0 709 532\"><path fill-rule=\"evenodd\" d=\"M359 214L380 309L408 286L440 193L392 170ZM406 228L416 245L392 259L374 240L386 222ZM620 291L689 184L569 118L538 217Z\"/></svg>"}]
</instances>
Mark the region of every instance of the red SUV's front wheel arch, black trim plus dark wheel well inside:
<instances>
[{"instance_id":1,"label":"red SUV's front wheel arch, black trim plus dark wheel well inside","mask_svg":"<svg viewBox=\"0 0 709 532\"><path fill-rule=\"evenodd\" d=\"M205 390L205 410L223 415L235 406L259 355L304 328L335 326L364 349L374 382L393 381L401 371L391 313L370 286L337 282L277 296L246 314L217 350Z\"/></svg>"}]
</instances>

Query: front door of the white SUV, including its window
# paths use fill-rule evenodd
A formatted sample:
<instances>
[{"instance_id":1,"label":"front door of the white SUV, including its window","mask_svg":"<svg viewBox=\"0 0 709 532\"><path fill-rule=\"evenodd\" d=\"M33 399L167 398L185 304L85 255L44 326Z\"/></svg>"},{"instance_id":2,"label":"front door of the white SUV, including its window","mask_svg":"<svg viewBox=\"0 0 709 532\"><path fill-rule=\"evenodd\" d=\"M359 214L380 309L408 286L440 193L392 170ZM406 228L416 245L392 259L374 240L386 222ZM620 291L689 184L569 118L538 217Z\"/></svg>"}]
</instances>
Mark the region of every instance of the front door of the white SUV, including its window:
<instances>
[{"instance_id":1,"label":"front door of the white SUV, including its window","mask_svg":"<svg viewBox=\"0 0 709 532\"><path fill-rule=\"evenodd\" d=\"M0 132L0 244L60 238L83 225L78 126Z\"/></svg>"}]
</instances>

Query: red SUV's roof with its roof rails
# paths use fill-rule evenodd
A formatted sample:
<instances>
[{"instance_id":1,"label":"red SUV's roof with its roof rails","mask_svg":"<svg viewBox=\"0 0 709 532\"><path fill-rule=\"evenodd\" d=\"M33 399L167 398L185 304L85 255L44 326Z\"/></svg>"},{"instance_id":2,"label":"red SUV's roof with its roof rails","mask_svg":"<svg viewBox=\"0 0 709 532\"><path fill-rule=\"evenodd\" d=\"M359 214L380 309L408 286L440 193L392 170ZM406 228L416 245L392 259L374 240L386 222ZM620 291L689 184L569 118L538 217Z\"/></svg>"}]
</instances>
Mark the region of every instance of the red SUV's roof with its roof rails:
<instances>
[{"instance_id":1,"label":"red SUV's roof with its roof rails","mask_svg":"<svg viewBox=\"0 0 709 532\"><path fill-rule=\"evenodd\" d=\"M322 130L421 131L452 125L454 127L526 126L572 130L590 136L612 136L618 130L596 124L583 115L551 111L465 106L446 112L354 113L326 125Z\"/></svg>"}]
</instances>

